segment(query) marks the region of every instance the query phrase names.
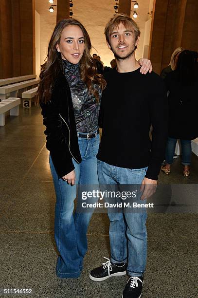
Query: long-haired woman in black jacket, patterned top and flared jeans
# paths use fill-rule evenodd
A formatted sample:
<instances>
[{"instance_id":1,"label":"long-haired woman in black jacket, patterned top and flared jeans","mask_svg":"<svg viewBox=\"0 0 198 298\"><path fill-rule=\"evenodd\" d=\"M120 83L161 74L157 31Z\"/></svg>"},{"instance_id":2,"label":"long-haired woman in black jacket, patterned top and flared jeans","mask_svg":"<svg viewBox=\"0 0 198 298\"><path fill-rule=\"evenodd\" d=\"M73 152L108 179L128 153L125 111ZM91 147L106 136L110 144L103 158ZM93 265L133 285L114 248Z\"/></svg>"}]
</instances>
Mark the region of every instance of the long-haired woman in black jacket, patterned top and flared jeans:
<instances>
[{"instance_id":1,"label":"long-haired woman in black jacket, patterned top and flared jeans","mask_svg":"<svg viewBox=\"0 0 198 298\"><path fill-rule=\"evenodd\" d=\"M97 73L90 50L90 37L79 21L58 22L47 61L41 67L37 93L56 193L56 274L61 278L79 277L87 251L91 212L73 213L74 184L98 184L98 112L106 82ZM148 64L145 60L143 70L150 68Z\"/></svg>"}]
</instances>

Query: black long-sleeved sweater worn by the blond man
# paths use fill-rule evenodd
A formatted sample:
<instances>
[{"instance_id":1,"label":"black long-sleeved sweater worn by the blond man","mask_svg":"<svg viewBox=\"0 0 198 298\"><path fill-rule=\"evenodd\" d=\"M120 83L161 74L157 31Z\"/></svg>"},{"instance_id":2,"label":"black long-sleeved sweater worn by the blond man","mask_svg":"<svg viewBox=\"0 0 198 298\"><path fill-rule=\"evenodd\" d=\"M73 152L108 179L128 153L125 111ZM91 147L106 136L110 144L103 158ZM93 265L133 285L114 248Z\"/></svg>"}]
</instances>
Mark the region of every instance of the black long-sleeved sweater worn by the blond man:
<instances>
[{"instance_id":1,"label":"black long-sleeved sweater worn by the blond man","mask_svg":"<svg viewBox=\"0 0 198 298\"><path fill-rule=\"evenodd\" d=\"M105 75L99 112L103 128L97 158L121 168L144 168L145 177L158 179L167 140L167 97L162 78L140 69ZM152 124L152 143L149 130ZM151 149L151 152L150 152Z\"/></svg>"}]
</instances>

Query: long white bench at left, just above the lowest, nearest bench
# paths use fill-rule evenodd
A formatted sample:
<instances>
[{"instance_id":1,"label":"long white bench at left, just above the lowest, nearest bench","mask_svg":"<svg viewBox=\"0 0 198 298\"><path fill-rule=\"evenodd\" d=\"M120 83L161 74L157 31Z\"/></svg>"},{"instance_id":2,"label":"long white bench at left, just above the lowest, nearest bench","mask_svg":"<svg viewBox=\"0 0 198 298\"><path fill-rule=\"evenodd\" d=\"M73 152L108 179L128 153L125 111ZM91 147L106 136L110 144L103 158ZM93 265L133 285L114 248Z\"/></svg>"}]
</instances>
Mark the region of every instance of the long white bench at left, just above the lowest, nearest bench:
<instances>
[{"instance_id":1,"label":"long white bench at left, just above the lowest, nearest bench","mask_svg":"<svg viewBox=\"0 0 198 298\"><path fill-rule=\"evenodd\" d=\"M18 97L18 91L30 86L35 86L39 82L39 79L33 79L29 81L24 81L16 84L11 84L7 86L0 87L0 99L4 100L8 97Z\"/></svg>"}]
</instances>

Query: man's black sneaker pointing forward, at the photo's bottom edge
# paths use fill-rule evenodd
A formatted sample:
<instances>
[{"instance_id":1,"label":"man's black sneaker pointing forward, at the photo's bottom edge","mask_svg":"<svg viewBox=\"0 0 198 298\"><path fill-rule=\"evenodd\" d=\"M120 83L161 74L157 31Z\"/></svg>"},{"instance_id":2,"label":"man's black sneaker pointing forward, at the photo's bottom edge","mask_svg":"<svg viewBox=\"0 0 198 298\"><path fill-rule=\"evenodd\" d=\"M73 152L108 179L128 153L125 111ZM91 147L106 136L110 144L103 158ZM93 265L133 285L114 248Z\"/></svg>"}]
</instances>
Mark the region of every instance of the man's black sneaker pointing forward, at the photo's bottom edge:
<instances>
[{"instance_id":1,"label":"man's black sneaker pointing forward, at the photo's bottom edge","mask_svg":"<svg viewBox=\"0 0 198 298\"><path fill-rule=\"evenodd\" d=\"M144 276L131 276L126 282L123 298L140 298L142 296Z\"/></svg>"}]
</instances>

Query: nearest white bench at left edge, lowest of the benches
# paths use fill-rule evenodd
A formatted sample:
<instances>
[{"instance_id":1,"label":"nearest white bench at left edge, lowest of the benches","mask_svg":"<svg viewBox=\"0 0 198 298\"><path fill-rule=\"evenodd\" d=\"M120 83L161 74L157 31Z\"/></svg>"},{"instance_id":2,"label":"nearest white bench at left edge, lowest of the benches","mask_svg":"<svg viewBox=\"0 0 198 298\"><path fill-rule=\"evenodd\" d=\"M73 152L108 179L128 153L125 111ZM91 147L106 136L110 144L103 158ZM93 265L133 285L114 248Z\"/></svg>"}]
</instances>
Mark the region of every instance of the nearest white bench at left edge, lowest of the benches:
<instances>
[{"instance_id":1,"label":"nearest white bench at left edge, lowest of the benches","mask_svg":"<svg viewBox=\"0 0 198 298\"><path fill-rule=\"evenodd\" d=\"M19 115L20 98L9 97L0 101L0 126L5 125L5 112L10 111L10 116Z\"/></svg>"}]
</instances>

